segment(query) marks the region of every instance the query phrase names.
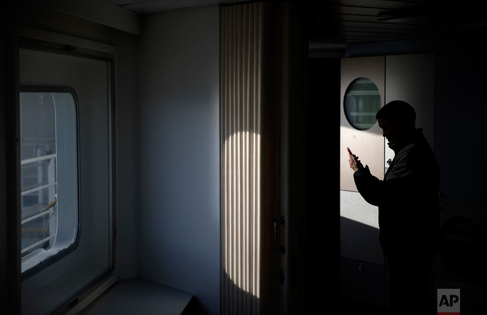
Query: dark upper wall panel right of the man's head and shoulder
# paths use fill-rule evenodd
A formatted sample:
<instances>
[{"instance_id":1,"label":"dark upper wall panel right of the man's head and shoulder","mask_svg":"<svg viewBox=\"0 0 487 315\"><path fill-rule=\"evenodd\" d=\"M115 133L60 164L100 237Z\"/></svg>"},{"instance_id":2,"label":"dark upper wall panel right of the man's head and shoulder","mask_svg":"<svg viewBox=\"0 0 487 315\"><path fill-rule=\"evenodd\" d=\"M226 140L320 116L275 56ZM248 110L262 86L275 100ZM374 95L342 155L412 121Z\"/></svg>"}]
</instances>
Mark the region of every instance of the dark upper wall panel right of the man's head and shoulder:
<instances>
[{"instance_id":1,"label":"dark upper wall panel right of the man's head and shoulder","mask_svg":"<svg viewBox=\"0 0 487 315\"><path fill-rule=\"evenodd\" d=\"M485 179L472 167L472 157L487 155L486 52L435 56L434 153L441 169L443 202L487 206Z\"/></svg>"}]
</instances>

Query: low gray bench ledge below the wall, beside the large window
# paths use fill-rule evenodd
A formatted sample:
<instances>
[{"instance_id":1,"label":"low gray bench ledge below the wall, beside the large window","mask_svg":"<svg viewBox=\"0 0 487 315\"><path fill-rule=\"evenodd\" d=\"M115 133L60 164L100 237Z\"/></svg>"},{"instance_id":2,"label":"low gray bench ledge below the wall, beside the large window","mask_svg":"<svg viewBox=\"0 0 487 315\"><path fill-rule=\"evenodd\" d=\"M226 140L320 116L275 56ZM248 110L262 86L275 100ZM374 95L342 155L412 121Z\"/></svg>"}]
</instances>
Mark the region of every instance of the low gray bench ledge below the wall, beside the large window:
<instances>
[{"instance_id":1,"label":"low gray bench ledge below the wall, beside the large window","mask_svg":"<svg viewBox=\"0 0 487 315\"><path fill-rule=\"evenodd\" d=\"M181 315L193 296L141 278L119 280L80 315Z\"/></svg>"}]
</instances>

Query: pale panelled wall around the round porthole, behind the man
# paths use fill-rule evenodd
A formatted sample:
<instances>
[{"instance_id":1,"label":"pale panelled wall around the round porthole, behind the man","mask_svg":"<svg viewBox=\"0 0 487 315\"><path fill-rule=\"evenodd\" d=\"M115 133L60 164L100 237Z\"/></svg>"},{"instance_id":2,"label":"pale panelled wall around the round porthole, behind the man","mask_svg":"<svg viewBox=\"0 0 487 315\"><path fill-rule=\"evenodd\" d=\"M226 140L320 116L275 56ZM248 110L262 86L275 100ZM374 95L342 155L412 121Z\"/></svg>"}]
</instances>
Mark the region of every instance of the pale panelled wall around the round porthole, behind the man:
<instances>
[{"instance_id":1,"label":"pale panelled wall around the round porthole, behind the man","mask_svg":"<svg viewBox=\"0 0 487 315\"><path fill-rule=\"evenodd\" d=\"M356 193L353 171L348 166L346 147L368 164L373 175L383 178L384 159L393 158L384 147L378 124L369 130L353 128L345 118L343 97L348 85L357 77L371 79L381 95L382 105L403 100L416 110L416 126L424 128L426 138L433 141L434 55L392 55L342 59L341 67L341 129L340 129L340 216L341 256L383 264L378 242L377 208ZM389 150L389 151L385 151ZM389 152L391 153L391 152Z\"/></svg>"}]
</instances>

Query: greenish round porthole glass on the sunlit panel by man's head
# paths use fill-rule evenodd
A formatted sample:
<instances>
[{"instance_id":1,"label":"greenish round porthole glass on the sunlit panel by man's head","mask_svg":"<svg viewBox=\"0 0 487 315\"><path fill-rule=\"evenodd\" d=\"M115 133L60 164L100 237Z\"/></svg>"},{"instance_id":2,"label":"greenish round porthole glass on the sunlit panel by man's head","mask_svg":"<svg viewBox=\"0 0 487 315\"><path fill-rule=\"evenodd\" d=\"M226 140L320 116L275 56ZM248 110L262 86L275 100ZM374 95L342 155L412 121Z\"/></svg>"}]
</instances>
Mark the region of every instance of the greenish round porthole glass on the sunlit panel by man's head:
<instances>
[{"instance_id":1,"label":"greenish round porthole glass on the sunlit panel by man's head","mask_svg":"<svg viewBox=\"0 0 487 315\"><path fill-rule=\"evenodd\" d=\"M344 98L345 117L358 130L367 130L375 122L380 109L379 89L368 78L357 78L348 86Z\"/></svg>"}]
</instances>

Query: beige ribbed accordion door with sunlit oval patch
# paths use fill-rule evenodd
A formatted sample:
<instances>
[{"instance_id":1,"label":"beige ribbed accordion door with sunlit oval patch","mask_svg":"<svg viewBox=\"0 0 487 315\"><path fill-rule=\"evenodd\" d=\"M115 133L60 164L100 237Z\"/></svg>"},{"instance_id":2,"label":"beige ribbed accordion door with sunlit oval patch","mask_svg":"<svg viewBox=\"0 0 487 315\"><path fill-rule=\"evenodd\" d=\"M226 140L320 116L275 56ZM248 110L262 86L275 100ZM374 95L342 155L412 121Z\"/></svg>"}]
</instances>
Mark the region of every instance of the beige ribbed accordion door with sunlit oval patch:
<instances>
[{"instance_id":1,"label":"beige ribbed accordion door with sunlit oval patch","mask_svg":"<svg viewBox=\"0 0 487 315\"><path fill-rule=\"evenodd\" d=\"M259 314L261 11L221 11L222 314Z\"/></svg>"}]
</instances>

